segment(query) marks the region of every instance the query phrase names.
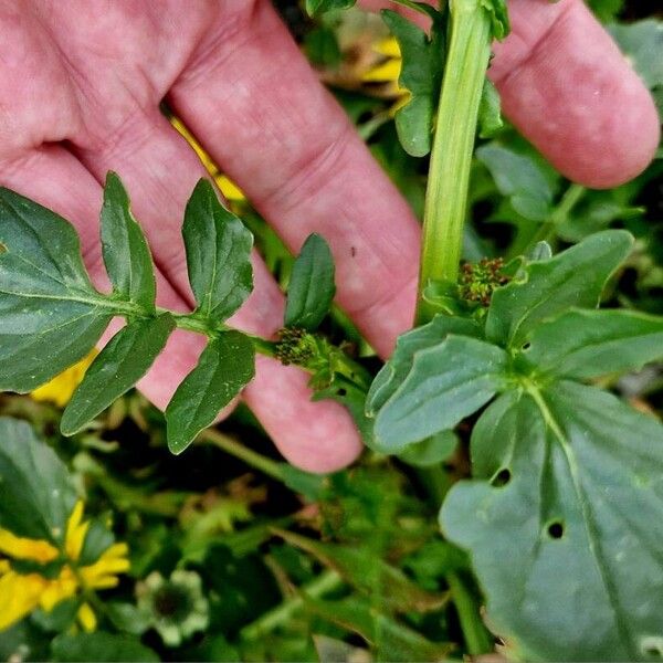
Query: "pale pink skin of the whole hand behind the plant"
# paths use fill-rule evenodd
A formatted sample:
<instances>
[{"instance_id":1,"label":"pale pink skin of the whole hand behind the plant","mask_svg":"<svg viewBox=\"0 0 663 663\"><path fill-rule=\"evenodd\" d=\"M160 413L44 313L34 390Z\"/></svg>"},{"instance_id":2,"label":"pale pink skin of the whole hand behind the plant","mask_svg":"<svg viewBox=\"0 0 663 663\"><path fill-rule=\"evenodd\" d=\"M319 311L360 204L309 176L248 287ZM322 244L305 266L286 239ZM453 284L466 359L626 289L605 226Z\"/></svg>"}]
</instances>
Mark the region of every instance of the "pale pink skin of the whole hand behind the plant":
<instances>
[{"instance_id":1,"label":"pale pink skin of the whole hand behind the plant","mask_svg":"<svg viewBox=\"0 0 663 663\"><path fill-rule=\"evenodd\" d=\"M580 0L509 7L513 33L495 44L491 76L512 122L575 181L638 175L659 119L610 38ZM338 304L389 355L412 322L419 224L270 2L0 0L0 183L76 225L99 287L97 219L113 169L148 235L159 304L191 307L180 224L206 171L160 114L166 99L293 251L314 231L329 241ZM257 256L254 269L255 292L232 324L271 336L283 296ZM164 408L200 349L177 332L143 392ZM261 357L243 398L287 460L341 467L359 436L340 406L309 401L306 382Z\"/></svg>"}]
</instances>

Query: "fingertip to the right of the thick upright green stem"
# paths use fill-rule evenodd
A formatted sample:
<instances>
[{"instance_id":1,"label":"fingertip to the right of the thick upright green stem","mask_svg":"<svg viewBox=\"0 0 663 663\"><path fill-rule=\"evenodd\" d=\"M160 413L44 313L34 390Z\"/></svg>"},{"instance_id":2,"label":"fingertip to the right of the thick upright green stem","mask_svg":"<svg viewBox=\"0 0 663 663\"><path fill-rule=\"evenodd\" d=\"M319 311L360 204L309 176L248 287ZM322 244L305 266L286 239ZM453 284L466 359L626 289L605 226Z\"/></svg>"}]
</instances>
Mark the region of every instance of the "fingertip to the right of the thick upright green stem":
<instances>
[{"instance_id":1,"label":"fingertip to the right of the thick upright green stem","mask_svg":"<svg viewBox=\"0 0 663 663\"><path fill-rule=\"evenodd\" d=\"M508 9L512 32L493 44L490 70L505 115L572 180L610 188L639 175L659 146L659 116L610 35L581 0Z\"/></svg>"}]
</instances>

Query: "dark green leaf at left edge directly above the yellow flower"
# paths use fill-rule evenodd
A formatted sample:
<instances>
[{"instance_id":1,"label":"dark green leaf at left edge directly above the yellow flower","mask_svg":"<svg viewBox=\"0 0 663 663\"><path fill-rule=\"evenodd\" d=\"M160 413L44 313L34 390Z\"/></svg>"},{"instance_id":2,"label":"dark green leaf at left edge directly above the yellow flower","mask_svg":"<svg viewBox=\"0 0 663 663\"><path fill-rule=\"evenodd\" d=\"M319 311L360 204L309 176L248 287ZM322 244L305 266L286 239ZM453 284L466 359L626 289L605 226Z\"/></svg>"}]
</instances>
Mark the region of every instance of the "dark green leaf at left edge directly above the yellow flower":
<instances>
[{"instance_id":1,"label":"dark green leaf at left edge directly above the yellow flower","mask_svg":"<svg viewBox=\"0 0 663 663\"><path fill-rule=\"evenodd\" d=\"M25 422L0 417L0 528L61 547L75 503L53 450Z\"/></svg>"}]
</instances>

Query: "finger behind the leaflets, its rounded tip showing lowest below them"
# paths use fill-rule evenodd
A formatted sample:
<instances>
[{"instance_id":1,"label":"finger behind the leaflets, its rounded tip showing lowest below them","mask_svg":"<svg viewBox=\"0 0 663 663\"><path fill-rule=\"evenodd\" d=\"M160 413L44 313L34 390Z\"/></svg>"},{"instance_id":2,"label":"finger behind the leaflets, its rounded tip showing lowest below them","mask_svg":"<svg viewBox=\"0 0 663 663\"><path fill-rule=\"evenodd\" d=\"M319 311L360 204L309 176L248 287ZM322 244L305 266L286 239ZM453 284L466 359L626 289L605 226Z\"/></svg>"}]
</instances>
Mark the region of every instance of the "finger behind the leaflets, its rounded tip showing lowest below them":
<instances>
[{"instance_id":1,"label":"finger behind the leaflets, its rounded tip showing lowest below them","mask_svg":"<svg viewBox=\"0 0 663 663\"><path fill-rule=\"evenodd\" d=\"M127 185L133 210L148 236L155 262L185 307L192 308L181 221L196 182L207 176L193 150L155 107L151 113L136 114L120 133L106 135L102 143L85 146L85 138L80 137L75 151L99 181L108 168L117 170ZM255 288L230 324L271 337L282 325L284 298L256 254L253 269ZM175 354L177 349L173 348ZM172 360L177 360L175 355ZM155 379L168 392L179 382L178 377L160 375ZM151 379L148 376L146 385L151 386ZM314 472L337 470L359 454L360 440L341 406L311 401L307 380L299 369L261 357L255 378L243 398L292 463Z\"/></svg>"}]
</instances>

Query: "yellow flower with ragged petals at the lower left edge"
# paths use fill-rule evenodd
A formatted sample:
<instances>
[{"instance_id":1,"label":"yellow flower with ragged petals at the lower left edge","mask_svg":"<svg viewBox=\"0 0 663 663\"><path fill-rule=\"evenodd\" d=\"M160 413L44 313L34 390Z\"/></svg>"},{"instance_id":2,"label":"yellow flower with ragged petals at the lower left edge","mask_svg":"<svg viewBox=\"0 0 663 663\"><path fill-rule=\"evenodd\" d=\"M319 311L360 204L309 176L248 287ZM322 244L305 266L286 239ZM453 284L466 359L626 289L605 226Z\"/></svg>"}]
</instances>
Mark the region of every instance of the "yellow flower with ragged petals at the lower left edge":
<instances>
[{"instance_id":1,"label":"yellow flower with ragged petals at the lower left edge","mask_svg":"<svg viewBox=\"0 0 663 663\"><path fill-rule=\"evenodd\" d=\"M0 558L0 631L23 619L35 608L51 611L54 606L75 597L80 590L107 589L118 582L117 575L129 569L126 544L114 544L88 566L78 566L90 522L83 522L83 503L77 502L67 520L64 539L65 564L55 578L38 572L20 573L11 568L9 559ZM0 554L15 560L41 564L61 557L49 541L18 537L0 529ZM93 631L96 617L87 603L77 613L83 629Z\"/></svg>"}]
</instances>

